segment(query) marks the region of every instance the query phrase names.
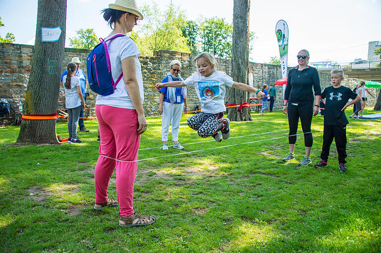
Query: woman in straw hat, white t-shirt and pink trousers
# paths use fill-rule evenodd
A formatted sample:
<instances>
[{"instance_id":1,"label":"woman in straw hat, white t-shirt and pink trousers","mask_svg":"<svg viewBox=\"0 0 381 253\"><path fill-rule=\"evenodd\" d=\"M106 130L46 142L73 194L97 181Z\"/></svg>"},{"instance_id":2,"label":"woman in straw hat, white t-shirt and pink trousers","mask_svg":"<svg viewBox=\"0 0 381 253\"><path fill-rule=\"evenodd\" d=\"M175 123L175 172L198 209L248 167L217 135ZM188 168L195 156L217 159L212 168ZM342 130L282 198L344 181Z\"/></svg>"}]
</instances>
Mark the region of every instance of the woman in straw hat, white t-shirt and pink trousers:
<instances>
[{"instance_id":1,"label":"woman in straw hat, white t-shirt and pink trousers","mask_svg":"<svg viewBox=\"0 0 381 253\"><path fill-rule=\"evenodd\" d=\"M105 39L117 34L126 35L143 19L135 0L116 0L104 9L103 17L113 29ZM127 36L117 37L107 43L113 79L123 78L115 92L97 96L95 113L99 122L101 144L95 166L94 209L120 207L119 226L132 227L152 224L155 216L143 216L132 208L140 135L147 130L143 110L143 80L136 44ZM118 201L109 199L107 188L116 168Z\"/></svg>"}]
</instances>

